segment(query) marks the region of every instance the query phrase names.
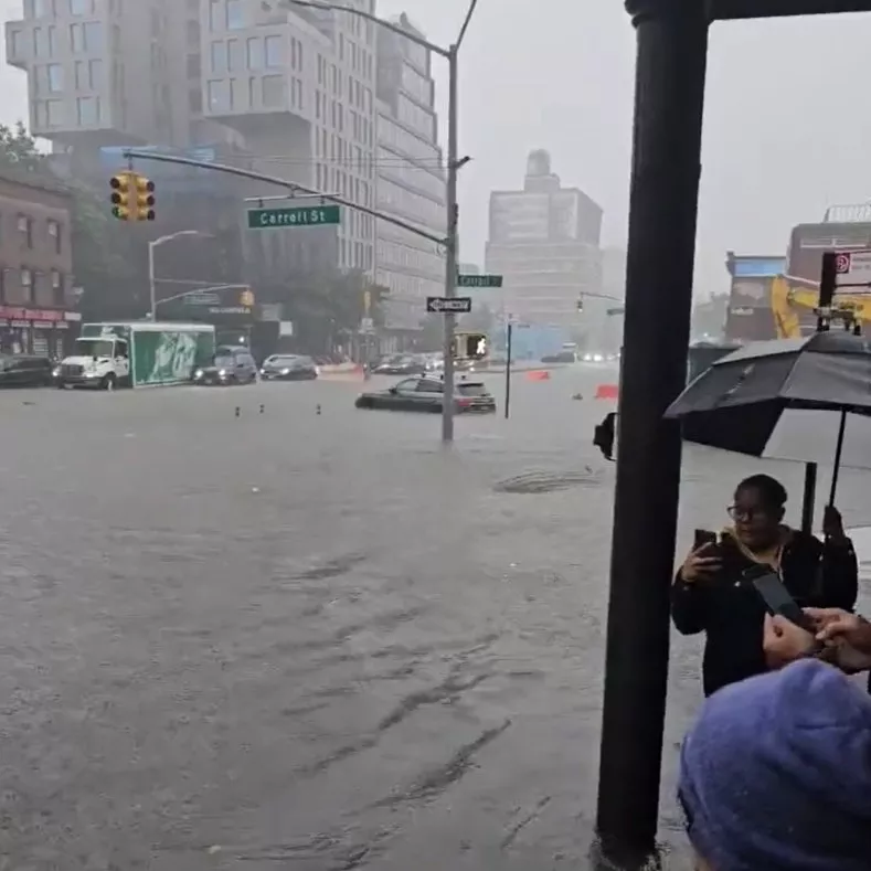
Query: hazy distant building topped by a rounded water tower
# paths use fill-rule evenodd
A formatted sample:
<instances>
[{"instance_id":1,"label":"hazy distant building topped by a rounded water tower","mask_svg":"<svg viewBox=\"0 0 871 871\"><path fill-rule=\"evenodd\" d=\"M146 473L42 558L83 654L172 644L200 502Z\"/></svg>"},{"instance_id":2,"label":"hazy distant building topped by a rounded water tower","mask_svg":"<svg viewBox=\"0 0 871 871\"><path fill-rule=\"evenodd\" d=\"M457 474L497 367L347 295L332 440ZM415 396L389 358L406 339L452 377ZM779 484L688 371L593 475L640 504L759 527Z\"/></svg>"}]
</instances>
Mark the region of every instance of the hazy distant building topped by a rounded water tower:
<instances>
[{"instance_id":1,"label":"hazy distant building topped by a rounded water tower","mask_svg":"<svg viewBox=\"0 0 871 871\"><path fill-rule=\"evenodd\" d=\"M501 306L520 320L582 329L578 299L601 287L602 208L563 188L546 151L529 156L523 190L490 194L487 272L504 276Z\"/></svg>"}]
</instances>

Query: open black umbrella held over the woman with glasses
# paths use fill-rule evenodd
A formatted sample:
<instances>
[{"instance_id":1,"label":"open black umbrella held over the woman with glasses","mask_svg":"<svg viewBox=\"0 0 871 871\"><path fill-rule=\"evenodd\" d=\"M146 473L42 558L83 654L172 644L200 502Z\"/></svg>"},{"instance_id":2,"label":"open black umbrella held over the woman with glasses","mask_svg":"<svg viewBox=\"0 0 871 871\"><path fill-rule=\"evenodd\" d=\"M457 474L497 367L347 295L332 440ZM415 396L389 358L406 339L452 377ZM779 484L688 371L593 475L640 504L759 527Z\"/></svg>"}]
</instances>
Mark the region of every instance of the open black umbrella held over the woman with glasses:
<instances>
[{"instance_id":1,"label":"open black umbrella held over the woman with glasses","mask_svg":"<svg viewBox=\"0 0 871 871\"><path fill-rule=\"evenodd\" d=\"M871 341L828 331L754 342L716 360L666 417L701 445L805 463L833 458L831 501L841 465L871 468Z\"/></svg>"}]
</instances>

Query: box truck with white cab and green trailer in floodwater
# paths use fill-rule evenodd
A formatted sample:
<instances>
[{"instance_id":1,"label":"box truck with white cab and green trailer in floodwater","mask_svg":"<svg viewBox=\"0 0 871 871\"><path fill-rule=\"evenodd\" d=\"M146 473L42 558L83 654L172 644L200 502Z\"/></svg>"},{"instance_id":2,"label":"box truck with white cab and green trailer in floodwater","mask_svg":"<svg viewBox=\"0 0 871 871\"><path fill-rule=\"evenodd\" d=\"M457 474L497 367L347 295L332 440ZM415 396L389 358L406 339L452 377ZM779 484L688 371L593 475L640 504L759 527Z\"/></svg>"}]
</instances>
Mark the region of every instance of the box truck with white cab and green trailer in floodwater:
<instances>
[{"instance_id":1,"label":"box truck with white cab and green trailer in floodwater","mask_svg":"<svg viewBox=\"0 0 871 871\"><path fill-rule=\"evenodd\" d=\"M55 380L59 387L103 390L185 384L214 349L211 323L85 323L73 353L55 370Z\"/></svg>"}]
</instances>

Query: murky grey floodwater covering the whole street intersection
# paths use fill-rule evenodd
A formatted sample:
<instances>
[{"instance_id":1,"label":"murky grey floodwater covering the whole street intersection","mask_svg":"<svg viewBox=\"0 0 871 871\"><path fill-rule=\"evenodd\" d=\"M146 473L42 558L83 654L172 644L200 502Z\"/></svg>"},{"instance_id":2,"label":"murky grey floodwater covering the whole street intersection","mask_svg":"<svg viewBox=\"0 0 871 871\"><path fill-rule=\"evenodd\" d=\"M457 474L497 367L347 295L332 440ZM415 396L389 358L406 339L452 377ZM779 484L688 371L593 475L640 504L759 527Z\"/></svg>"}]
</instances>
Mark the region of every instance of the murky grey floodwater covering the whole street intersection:
<instances>
[{"instance_id":1,"label":"murky grey floodwater covering the whole street intersection","mask_svg":"<svg viewBox=\"0 0 871 871\"><path fill-rule=\"evenodd\" d=\"M572 394L601 380L518 378L450 452L349 383L1 393L0 868L586 868L614 467ZM763 464L684 457L686 545ZM797 514L800 468L764 468Z\"/></svg>"}]
</instances>

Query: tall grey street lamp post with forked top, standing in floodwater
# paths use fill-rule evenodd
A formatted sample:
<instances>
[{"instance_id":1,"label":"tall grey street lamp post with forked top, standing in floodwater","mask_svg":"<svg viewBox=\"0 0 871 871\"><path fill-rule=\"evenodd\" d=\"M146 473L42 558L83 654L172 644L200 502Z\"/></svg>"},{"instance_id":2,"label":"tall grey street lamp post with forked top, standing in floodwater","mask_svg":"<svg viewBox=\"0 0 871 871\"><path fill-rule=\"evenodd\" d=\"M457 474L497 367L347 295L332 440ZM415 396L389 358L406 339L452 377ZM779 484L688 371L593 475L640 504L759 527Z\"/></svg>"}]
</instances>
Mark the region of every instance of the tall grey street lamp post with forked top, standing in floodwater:
<instances>
[{"instance_id":1,"label":"tall grey street lamp post with forked top, standing in floodwater","mask_svg":"<svg viewBox=\"0 0 871 871\"><path fill-rule=\"evenodd\" d=\"M368 19L379 26L390 30L393 33L410 40L417 45L427 49L434 54L444 57L448 62L448 105L447 105L447 238L445 240L445 296L453 299L457 295L457 229L458 229L458 208L457 208L457 171L463 167L468 158L458 157L457 140L457 85L458 85L458 64L457 56L459 46L468 30L478 0L471 0L466 12L466 18L459 34L454 43L447 49L436 45L428 40L410 33L399 24L385 21L370 12L361 9L342 6L341 3L321 2L321 0L278 0L278 6L287 9L291 7L306 7L309 9L331 10L333 12L349 12L359 18ZM454 440L454 337L456 333L457 316L454 314L444 315L445 318L445 392L442 403L442 440L449 443Z\"/></svg>"}]
</instances>

